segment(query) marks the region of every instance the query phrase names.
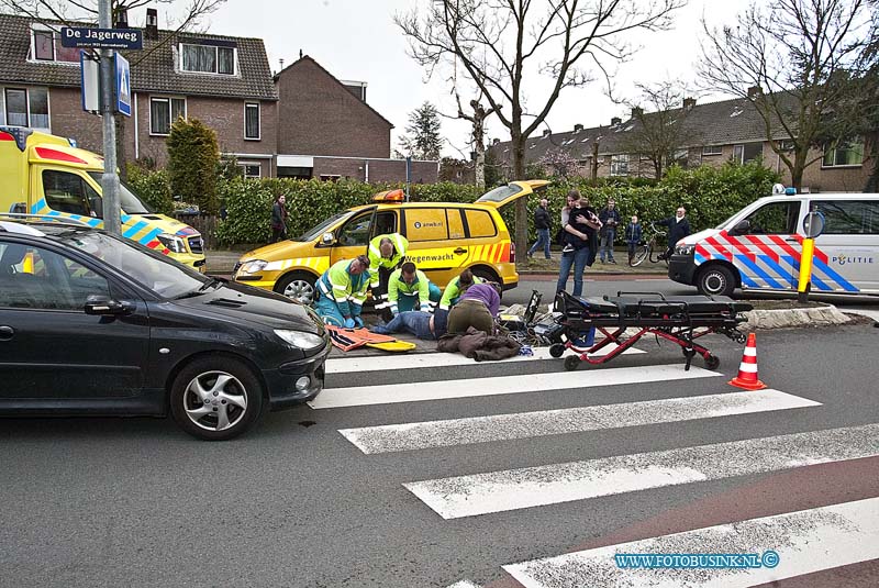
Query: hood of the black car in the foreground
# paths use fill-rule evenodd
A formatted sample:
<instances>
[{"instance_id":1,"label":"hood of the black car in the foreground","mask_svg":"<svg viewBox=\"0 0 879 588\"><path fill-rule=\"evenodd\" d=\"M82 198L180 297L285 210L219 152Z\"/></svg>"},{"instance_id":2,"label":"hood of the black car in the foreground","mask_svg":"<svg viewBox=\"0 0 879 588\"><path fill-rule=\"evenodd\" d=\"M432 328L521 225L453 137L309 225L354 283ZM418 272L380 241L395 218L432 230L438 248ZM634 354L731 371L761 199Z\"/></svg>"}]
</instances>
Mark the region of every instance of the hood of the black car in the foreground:
<instances>
[{"instance_id":1,"label":"hood of the black car in the foreground","mask_svg":"<svg viewBox=\"0 0 879 588\"><path fill-rule=\"evenodd\" d=\"M177 299L174 303L238 323L255 322L270 329L292 329L321 336L325 332L311 309L281 295L233 281L223 281L218 288Z\"/></svg>"}]
</instances>

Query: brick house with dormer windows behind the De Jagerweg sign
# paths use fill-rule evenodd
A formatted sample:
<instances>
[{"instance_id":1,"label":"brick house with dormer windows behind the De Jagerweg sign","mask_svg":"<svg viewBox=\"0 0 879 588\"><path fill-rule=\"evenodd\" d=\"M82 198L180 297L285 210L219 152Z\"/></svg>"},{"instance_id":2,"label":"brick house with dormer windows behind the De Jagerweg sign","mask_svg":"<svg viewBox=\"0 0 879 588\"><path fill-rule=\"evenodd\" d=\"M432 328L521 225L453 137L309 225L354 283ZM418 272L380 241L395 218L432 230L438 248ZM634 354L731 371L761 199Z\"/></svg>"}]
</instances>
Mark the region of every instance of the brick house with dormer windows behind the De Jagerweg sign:
<instances>
[{"instance_id":1,"label":"brick house with dormer windows behind the De Jagerweg sign","mask_svg":"<svg viewBox=\"0 0 879 588\"><path fill-rule=\"evenodd\" d=\"M74 137L100 153L101 120L81 108L79 49L62 46L60 26L0 14L0 124ZM235 155L246 175L275 175L278 96L263 41L171 35L147 25L143 51L123 52L132 65L126 159L164 165L168 130L182 115L214 129L220 151Z\"/></svg>"}]
</instances>

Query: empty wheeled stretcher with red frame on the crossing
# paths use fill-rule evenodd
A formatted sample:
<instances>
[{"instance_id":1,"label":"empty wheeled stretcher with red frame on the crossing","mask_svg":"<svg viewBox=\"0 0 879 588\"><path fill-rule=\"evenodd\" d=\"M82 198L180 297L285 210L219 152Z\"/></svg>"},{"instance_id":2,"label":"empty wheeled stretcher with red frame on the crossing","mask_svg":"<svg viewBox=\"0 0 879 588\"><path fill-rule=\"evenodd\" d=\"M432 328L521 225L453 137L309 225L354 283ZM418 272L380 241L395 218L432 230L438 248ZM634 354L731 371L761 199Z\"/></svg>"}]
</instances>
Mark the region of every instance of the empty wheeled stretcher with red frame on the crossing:
<instances>
[{"instance_id":1,"label":"empty wheeled stretcher with red frame on the crossing","mask_svg":"<svg viewBox=\"0 0 879 588\"><path fill-rule=\"evenodd\" d=\"M556 297L557 321L564 326L564 343L549 347L553 357L561 357L566 350L577 355L565 358L565 369L577 369L581 362L604 364L637 343L644 335L652 334L680 345L687 359L685 369L697 354L702 356L709 369L720 366L717 356L702 345L694 343L710 333L719 333L737 343L745 342L745 334L738 324L747 321L742 314L752 306L731 298L716 296L679 296L666 299L658 292L616 292L615 297L579 298L567 292ZM628 329L634 334L626 335ZM592 342L593 335L601 333L603 339ZM586 341L586 343L582 343ZM607 355L589 357L603 347L615 344Z\"/></svg>"}]
</instances>

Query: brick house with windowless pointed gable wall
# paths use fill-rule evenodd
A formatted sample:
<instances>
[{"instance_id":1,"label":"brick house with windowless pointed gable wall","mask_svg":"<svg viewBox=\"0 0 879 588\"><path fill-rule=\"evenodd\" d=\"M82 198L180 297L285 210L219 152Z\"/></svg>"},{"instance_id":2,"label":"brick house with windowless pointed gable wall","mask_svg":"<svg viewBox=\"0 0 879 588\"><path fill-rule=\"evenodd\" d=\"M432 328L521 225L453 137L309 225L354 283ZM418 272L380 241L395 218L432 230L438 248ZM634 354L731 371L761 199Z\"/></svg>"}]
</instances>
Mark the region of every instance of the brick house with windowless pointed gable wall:
<instances>
[{"instance_id":1,"label":"brick house with windowless pointed gable wall","mask_svg":"<svg viewBox=\"0 0 879 588\"><path fill-rule=\"evenodd\" d=\"M366 102L365 82L343 82L308 55L274 79L279 177L405 179L405 160L390 157L393 124ZM437 174L437 162L412 162L413 182L433 184Z\"/></svg>"}]
</instances>

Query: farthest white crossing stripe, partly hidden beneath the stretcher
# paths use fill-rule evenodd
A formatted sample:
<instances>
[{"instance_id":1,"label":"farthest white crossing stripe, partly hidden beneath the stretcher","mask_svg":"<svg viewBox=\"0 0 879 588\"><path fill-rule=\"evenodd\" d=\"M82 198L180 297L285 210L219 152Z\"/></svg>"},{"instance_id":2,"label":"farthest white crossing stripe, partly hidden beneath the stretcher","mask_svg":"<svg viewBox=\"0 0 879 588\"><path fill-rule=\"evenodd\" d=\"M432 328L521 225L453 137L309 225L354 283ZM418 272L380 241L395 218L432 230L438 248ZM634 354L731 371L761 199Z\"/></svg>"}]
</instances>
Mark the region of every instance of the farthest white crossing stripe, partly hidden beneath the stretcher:
<instances>
[{"instance_id":1,"label":"farthest white crossing stripe, partly hidden beneath the stretcher","mask_svg":"<svg viewBox=\"0 0 879 588\"><path fill-rule=\"evenodd\" d=\"M609 345L607 352L615 348L616 345ZM569 353L569 352L568 352ZM630 347L623 354L646 353L634 347ZM599 354L601 355L601 354ZM533 362L555 359L549 355L549 347L535 347L534 355L516 355L509 359L503 359L504 364L510 362ZM340 359L327 359L326 371L327 374L346 374L353 371L383 371L386 369L412 369L420 367L448 367L448 366L464 366L474 365L476 362L469 357L465 357L459 353L414 353L411 355L385 356L371 355L368 357L345 357Z\"/></svg>"}]
</instances>

